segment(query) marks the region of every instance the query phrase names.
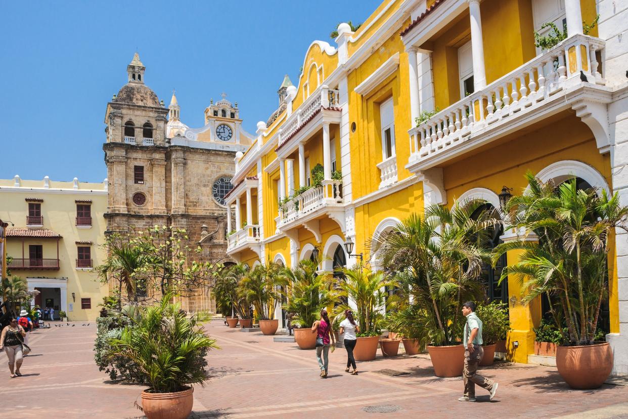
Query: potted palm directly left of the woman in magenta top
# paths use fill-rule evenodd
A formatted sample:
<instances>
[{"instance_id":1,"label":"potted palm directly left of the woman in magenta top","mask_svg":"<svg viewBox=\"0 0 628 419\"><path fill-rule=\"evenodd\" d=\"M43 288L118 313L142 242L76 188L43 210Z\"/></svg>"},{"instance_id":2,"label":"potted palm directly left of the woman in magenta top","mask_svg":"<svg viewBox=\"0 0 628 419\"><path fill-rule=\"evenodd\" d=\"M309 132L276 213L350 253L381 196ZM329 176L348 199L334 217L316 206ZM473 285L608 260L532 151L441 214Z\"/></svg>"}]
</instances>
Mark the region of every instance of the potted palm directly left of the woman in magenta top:
<instances>
[{"instance_id":1,"label":"potted palm directly left of the woman in magenta top","mask_svg":"<svg viewBox=\"0 0 628 419\"><path fill-rule=\"evenodd\" d=\"M338 302L338 293L323 275L317 274L318 262L305 259L296 268L284 269L288 282L288 302L284 310L292 315L295 341L300 349L314 349L317 334L311 331L320 310Z\"/></svg>"}]
</instances>

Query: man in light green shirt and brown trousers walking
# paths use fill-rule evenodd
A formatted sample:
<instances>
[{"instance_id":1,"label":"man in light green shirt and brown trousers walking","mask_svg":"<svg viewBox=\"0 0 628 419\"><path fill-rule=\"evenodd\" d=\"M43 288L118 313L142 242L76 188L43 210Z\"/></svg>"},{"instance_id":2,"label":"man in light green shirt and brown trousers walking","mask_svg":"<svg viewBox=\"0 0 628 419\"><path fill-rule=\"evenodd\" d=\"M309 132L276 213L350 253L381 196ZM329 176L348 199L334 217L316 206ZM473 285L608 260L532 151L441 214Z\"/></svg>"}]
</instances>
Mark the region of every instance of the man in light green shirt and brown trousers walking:
<instances>
[{"instance_id":1,"label":"man in light green shirt and brown trousers walking","mask_svg":"<svg viewBox=\"0 0 628 419\"><path fill-rule=\"evenodd\" d=\"M458 401L475 401L475 384L490 391L490 400L493 400L497 393L497 383L477 374L477 364L482 360L484 349L482 349L482 320L475 315L475 303L466 302L462 305L462 314L467 317L465 325L464 339L465 345L465 369L462 373L465 394Z\"/></svg>"}]
</instances>

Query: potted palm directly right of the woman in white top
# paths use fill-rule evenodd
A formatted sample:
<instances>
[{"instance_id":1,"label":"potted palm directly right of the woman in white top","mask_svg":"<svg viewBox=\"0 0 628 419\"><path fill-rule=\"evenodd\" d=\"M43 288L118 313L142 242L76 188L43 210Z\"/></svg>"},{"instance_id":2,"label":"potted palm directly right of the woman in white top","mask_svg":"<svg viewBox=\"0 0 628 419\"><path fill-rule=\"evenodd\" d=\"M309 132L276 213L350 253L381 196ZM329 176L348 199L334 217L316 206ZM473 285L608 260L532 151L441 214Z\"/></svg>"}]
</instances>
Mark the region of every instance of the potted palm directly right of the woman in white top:
<instances>
[{"instance_id":1,"label":"potted palm directly right of the woman in white top","mask_svg":"<svg viewBox=\"0 0 628 419\"><path fill-rule=\"evenodd\" d=\"M396 285L394 278L387 278L382 272L372 272L360 263L355 268L340 269L344 278L338 284L340 296L355 303L360 333L354 348L355 361L372 361L377 355L377 344L381 334L383 315L381 310L386 303L386 287ZM342 315L349 305L338 305L333 309L335 317Z\"/></svg>"}]
</instances>

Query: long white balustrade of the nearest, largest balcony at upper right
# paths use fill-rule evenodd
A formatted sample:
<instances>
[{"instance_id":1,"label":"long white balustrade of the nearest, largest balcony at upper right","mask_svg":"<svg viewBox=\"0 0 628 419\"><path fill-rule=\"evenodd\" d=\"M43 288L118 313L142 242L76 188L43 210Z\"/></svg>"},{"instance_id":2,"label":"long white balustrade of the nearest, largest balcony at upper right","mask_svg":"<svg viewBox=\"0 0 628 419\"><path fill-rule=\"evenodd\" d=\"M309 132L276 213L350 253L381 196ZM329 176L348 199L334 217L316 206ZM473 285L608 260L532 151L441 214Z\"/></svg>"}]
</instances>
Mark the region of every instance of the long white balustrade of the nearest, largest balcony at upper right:
<instances>
[{"instance_id":1,"label":"long white balustrade of the nearest, largest balcony at upper right","mask_svg":"<svg viewBox=\"0 0 628 419\"><path fill-rule=\"evenodd\" d=\"M589 83L604 84L595 56L603 48L604 41L598 38L571 36L484 89L443 109L408 131L409 163L454 148L495 122L514 121L523 111L543 106L566 87L582 83L580 70L586 73Z\"/></svg>"}]
</instances>

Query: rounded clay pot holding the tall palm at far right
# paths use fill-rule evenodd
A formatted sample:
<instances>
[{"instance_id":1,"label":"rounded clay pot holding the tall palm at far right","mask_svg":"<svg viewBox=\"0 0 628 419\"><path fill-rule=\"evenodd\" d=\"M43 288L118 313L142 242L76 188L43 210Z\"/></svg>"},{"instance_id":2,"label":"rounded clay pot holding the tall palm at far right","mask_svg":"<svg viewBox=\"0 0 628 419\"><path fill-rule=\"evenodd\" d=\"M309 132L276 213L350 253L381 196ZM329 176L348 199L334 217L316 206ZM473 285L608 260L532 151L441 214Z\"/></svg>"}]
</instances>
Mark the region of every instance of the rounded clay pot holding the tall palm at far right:
<instances>
[{"instance_id":1,"label":"rounded clay pot holding the tall palm at far right","mask_svg":"<svg viewBox=\"0 0 628 419\"><path fill-rule=\"evenodd\" d=\"M609 342L587 346L556 348L558 373L575 389L600 387L613 369L613 351Z\"/></svg>"}]
</instances>

